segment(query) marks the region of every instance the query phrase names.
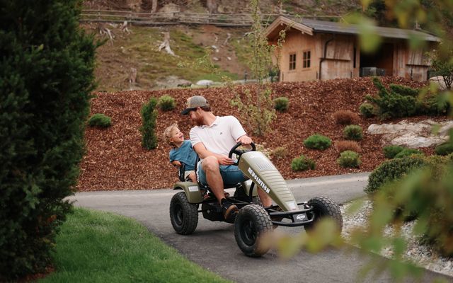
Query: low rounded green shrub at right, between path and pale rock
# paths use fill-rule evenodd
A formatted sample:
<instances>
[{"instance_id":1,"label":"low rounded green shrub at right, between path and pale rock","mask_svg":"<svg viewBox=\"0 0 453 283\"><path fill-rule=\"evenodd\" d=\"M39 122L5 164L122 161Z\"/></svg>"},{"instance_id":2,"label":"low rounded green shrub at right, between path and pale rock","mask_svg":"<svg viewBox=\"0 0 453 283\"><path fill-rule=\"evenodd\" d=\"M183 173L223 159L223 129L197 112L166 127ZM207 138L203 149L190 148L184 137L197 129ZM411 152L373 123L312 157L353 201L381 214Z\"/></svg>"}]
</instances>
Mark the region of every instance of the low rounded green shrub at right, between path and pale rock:
<instances>
[{"instance_id":1,"label":"low rounded green shrub at right, between path and pale rock","mask_svg":"<svg viewBox=\"0 0 453 283\"><path fill-rule=\"evenodd\" d=\"M416 168L428 164L420 156L408 156L384 161L369 175L368 185L365 187L367 194L377 192L384 184L403 178Z\"/></svg>"}]
</instances>

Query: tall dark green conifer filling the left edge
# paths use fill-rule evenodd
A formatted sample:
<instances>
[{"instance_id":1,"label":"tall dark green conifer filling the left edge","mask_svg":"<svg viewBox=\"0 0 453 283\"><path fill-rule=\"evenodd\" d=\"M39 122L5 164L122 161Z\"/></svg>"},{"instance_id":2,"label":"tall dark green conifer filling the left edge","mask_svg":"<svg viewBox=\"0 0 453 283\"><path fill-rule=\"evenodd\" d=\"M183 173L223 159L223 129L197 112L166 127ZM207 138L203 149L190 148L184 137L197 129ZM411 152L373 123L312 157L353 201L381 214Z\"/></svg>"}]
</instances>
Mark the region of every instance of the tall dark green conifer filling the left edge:
<instances>
[{"instance_id":1,"label":"tall dark green conifer filling the left edge","mask_svg":"<svg viewBox=\"0 0 453 283\"><path fill-rule=\"evenodd\" d=\"M71 208L96 51L76 3L1 2L1 282L51 264Z\"/></svg>"}]
</instances>

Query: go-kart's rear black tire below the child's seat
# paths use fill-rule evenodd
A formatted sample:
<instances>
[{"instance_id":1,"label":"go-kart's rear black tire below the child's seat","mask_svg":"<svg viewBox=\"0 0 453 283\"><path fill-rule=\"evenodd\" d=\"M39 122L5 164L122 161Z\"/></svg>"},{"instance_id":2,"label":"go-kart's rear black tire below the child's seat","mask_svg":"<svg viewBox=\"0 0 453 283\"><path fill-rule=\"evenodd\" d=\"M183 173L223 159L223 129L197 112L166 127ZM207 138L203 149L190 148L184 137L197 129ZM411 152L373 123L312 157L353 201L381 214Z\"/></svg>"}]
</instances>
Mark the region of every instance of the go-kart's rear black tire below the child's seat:
<instances>
[{"instance_id":1,"label":"go-kart's rear black tire below the child's seat","mask_svg":"<svg viewBox=\"0 0 453 283\"><path fill-rule=\"evenodd\" d=\"M182 235L193 233L198 224L198 204L189 203L185 192L178 192L171 198L170 220L176 233Z\"/></svg>"}]
</instances>

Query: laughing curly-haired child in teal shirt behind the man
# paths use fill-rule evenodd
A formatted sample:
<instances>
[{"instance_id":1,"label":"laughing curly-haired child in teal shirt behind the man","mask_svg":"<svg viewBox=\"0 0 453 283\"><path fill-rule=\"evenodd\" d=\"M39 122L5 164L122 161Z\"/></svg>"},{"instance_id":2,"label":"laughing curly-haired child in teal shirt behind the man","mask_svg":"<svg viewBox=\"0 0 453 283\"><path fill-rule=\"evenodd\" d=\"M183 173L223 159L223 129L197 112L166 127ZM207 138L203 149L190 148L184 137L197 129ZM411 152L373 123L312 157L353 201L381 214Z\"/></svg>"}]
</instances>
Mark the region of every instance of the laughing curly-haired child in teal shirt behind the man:
<instances>
[{"instance_id":1,"label":"laughing curly-haired child in teal shirt behind the man","mask_svg":"<svg viewBox=\"0 0 453 283\"><path fill-rule=\"evenodd\" d=\"M173 146L169 154L170 162L174 166L181 166L181 163L184 163L184 179L190 179L193 183L197 183L197 177L195 176L197 154L193 151L190 140L184 140L184 135L180 132L176 123L165 129L164 137L168 144Z\"/></svg>"}]
</instances>

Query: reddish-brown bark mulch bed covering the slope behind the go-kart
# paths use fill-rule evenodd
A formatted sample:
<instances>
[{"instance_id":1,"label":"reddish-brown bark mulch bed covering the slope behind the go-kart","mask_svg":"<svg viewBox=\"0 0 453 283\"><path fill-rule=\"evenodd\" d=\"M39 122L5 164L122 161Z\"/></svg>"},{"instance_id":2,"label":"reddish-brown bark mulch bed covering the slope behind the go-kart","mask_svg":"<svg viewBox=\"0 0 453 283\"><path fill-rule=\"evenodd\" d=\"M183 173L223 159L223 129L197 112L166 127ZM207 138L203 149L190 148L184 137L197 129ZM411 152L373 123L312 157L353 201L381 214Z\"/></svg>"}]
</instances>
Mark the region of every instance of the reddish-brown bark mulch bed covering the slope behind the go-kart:
<instances>
[{"instance_id":1,"label":"reddish-brown bark mulch bed covering the slope behind the go-kart","mask_svg":"<svg viewBox=\"0 0 453 283\"><path fill-rule=\"evenodd\" d=\"M398 83L411 87L423 86L423 83L401 78L384 77L384 85ZM332 115L337 110L351 110L358 113L358 108L365 101L365 95L377 93L369 78L336 79L331 81L309 81L298 83L273 83L273 97L289 98L287 112L277 112L277 119L271 131L265 137L253 136L251 129L239 115L230 101L234 97L227 88L169 89L161 91L122 91L118 93L95 93L91 100L91 113L103 113L112 118L113 125L107 129L86 129L86 155L81 162L79 191L93 190L144 190L171 187L178 181L176 169L168 162L170 146L162 137L164 129L172 122L178 122L181 131L188 139L190 119L180 115L185 100L190 96L205 96L212 105L215 115L234 115L243 123L253 140L275 149L287 148L285 158L273 158L272 161L285 179L306 178L321 175L338 175L372 171L385 160L382 142L377 135L364 135L359 142L362 151L362 165L357 169L341 168L336 159L336 141L343 140L343 125L337 125ZM256 86L237 86L243 92L245 88ZM168 95L175 98L175 110L159 110L156 133L159 135L157 149L147 151L142 148L139 127L142 125L140 108L149 98ZM411 117L409 121L424 120L427 117ZM365 119L360 116L357 125L364 132L372 123L379 123L377 118ZM397 122L387 120L385 122ZM303 141L311 134L323 134L330 137L333 146L325 151L306 149ZM432 154L433 149L422 149ZM291 170L292 158L304 154L316 162L316 169L304 172Z\"/></svg>"}]
</instances>

